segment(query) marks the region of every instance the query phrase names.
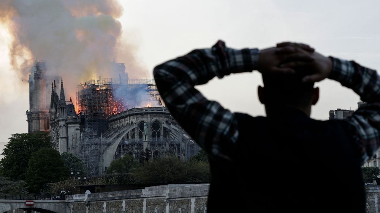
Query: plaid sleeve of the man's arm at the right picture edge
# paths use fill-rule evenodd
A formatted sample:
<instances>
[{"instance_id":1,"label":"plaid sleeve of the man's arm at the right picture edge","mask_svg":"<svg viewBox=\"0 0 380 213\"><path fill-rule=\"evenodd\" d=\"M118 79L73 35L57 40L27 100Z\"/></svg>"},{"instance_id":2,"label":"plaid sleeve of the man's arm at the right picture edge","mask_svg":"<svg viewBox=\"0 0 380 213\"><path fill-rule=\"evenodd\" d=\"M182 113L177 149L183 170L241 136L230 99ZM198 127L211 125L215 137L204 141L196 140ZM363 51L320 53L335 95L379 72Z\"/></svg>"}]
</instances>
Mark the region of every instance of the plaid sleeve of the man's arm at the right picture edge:
<instances>
[{"instance_id":1,"label":"plaid sleeve of the man's arm at the right picture edge","mask_svg":"<svg viewBox=\"0 0 380 213\"><path fill-rule=\"evenodd\" d=\"M363 164L380 146L380 76L376 70L360 66L355 61L330 58L333 69L329 78L353 89L362 101L367 102L347 117L347 121L356 128L353 137Z\"/></svg>"}]
</instances>

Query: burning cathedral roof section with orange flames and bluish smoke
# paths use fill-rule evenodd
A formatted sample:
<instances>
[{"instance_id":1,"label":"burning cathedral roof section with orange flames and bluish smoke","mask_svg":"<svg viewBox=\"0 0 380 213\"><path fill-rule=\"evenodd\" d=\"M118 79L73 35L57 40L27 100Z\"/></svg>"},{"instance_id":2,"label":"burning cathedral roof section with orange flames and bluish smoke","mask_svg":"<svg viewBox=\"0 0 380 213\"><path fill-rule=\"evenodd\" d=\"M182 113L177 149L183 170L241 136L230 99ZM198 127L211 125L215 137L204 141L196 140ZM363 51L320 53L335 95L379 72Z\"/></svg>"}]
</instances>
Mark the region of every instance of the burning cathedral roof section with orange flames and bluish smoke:
<instances>
[{"instance_id":1,"label":"burning cathedral roof section with orange flames and bluish smoke","mask_svg":"<svg viewBox=\"0 0 380 213\"><path fill-rule=\"evenodd\" d=\"M79 85L76 100L78 112L86 116L86 128L99 132L109 116L134 107L159 107L160 99L152 79L99 77Z\"/></svg>"}]
</instances>

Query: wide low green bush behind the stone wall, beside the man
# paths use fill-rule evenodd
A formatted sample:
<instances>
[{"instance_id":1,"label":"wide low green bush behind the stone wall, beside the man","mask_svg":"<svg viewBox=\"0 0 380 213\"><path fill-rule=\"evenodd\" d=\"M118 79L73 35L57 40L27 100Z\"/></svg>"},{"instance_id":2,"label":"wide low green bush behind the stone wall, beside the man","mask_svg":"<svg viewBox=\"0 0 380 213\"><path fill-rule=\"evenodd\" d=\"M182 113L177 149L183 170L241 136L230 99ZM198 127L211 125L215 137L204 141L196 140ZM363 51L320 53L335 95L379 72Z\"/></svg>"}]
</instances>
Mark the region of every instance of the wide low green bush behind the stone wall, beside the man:
<instances>
[{"instance_id":1,"label":"wide low green bush behind the stone wall, beside the man","mask_svg":"<svg viewBox=\"0 0 380 213\"><path fill-rule=\"evenodd\" d=\"M139 183L208 182L209 166L202 161L182 161L177 157L163 157L146 163L135 171Z\"/></svg>"}]
</instances>

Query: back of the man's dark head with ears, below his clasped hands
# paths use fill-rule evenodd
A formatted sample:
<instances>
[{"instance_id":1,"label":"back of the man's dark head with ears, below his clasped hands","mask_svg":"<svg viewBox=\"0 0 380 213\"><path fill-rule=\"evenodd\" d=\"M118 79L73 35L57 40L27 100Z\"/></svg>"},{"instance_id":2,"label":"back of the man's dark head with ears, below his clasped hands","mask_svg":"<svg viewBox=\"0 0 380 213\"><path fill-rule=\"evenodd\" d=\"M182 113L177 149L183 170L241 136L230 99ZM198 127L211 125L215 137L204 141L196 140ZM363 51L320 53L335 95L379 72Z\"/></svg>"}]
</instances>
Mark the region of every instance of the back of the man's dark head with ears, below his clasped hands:
<instances>
[{"instance_id":1,"label":"back of the man's dark head with ears, below his clasped hands","mask_svg":"<svg viewBox=\"0 0 380 213\"><path fill-rule=\"evenodd\" d=\"M282 108L297 108L310 116L311 106L319 98L319 88L314 83L302 83L305 75L263 74L264 87L259 86L258 96L267 114Z\"/></svg>"}]
</instances>

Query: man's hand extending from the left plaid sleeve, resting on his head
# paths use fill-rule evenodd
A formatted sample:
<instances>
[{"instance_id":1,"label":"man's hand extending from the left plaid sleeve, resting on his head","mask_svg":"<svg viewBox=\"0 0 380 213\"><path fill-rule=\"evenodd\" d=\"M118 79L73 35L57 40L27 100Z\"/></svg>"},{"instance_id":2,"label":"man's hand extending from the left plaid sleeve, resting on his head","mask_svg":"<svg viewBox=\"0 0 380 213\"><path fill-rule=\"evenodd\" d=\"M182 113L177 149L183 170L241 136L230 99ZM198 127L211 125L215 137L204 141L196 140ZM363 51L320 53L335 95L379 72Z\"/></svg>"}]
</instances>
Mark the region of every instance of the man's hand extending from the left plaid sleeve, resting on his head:
<instances>
[{"instance_id":1,"label":"man's hand extending from the left plaid sleeve, resting on his head","mask_svg":"<svg viewBox=\"0 0 380 213\"><path fill-rule=\"evenodd\" d=\"M259 53L258 71L261 74L293 74L295 73L294 66L280 67L280 65L288 62L312 63L314 58L311 53L313 52L314 49L309 45L290 42L287 42L287 45L263 49Z\"/></svg>"}]
</instances>

